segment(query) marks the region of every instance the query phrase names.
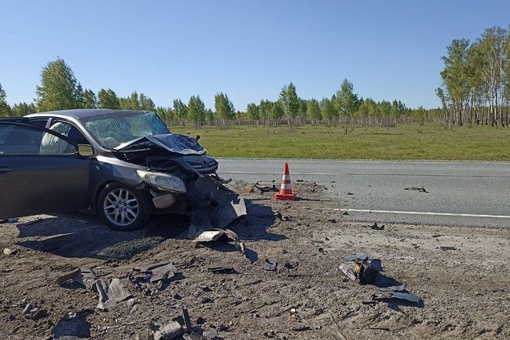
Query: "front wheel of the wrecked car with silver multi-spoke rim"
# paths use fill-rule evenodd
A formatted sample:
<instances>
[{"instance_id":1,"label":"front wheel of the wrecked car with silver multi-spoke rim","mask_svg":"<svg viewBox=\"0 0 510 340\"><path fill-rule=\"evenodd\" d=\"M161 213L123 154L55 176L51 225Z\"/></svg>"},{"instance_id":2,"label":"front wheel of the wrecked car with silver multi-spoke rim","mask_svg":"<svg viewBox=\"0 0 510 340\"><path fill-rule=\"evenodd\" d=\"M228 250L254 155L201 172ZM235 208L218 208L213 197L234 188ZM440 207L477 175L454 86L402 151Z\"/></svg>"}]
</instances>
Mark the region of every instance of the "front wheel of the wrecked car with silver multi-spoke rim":
<instances>
[{"instance_id":1,"label":"front wheel of the wrecked car with silver multi-spoke rim","mask_svg":"<svg viewBox=\"0 0 510 340\"><path fill-rule=\"evenodd\" d=\"M152 206L148 192L112 182L99 193L97 212L109 228L130 231L147 223Z\"/></svg>"}]
</instances>

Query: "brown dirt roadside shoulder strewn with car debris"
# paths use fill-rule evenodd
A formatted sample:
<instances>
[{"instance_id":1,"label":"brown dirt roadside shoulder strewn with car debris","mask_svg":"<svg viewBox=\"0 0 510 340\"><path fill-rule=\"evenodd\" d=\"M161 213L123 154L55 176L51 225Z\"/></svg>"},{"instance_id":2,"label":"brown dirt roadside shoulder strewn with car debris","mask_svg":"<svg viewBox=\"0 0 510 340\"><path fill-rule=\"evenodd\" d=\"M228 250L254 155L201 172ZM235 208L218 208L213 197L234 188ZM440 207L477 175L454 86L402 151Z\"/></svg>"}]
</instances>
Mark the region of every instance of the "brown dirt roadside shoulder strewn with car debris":
<instances>
[{"instance_id":1,"label":"brown dirt roadside shoulder strewn with car debris","mask_svg":"<svg viewBox=\"0 0 510 340\"><path fill-rule=\"evenodd\" d=\"M292 202L234 185L247 198L249 216L231 226L244 254L233 243L196 246L177 216L129 233L82 213L0 224L2 338L148 339L151 324L183 308L198 333L217 339L510 337L508 229L375 228L349 222L314 183L295 183ZM384 275L422 301L346 279L338 267L358 252L381 259ZM159 262L173 263L175 275L142 289L133 268ZM97 309L97 293L57 283L77 268L120 279L132 297Z\"/></svg>"}]
</instances>

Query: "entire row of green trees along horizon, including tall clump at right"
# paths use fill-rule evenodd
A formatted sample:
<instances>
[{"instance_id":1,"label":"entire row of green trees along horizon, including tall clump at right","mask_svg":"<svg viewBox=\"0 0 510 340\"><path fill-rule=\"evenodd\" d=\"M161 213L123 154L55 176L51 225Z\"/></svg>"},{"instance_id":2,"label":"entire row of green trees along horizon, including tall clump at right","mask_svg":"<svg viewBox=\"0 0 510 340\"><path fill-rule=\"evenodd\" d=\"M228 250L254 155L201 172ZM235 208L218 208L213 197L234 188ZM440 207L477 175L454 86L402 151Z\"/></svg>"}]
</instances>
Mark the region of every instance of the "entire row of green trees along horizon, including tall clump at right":
<instances>
[{"instance_id":1,"label":"entire row of green trees along horizon, including tall clump at right","mask_svg":"<svg viewBox=\"0 0 510 340\"><path fill-rule=\"evenodd\" d=\"M156 106L143 93L132 92L119 97L114 90L100 89L97 93L83 88L71 67L57 58L43 67L41 83L36 87L33 103L18 103L10 107L0 84L0 116L23 116L31 112L74 109L109 108L148 110L157 112L169 125L195 127L215 125L222 128L232 124L277 126L287 124L290 129L304 124L342 125L345 132L360 125L395 126L402 123L442 122L445 126L465 122L508 125L507 70L508 33L499 28L488 29L479 41L469 45L465 39L454 40L442 59L443 84L436 89L442 107L411 109L400 100L375 101L354 92L354 86L344 79L340 88L322 99L303 99L291 82L282 87L278 99L252 102L236 110L228 95L219 92L214 108L206 108L199 95L187 102L174 99L172 106ZM475 53L476 52L476 53Z\"/></svg>"}]
</instances>

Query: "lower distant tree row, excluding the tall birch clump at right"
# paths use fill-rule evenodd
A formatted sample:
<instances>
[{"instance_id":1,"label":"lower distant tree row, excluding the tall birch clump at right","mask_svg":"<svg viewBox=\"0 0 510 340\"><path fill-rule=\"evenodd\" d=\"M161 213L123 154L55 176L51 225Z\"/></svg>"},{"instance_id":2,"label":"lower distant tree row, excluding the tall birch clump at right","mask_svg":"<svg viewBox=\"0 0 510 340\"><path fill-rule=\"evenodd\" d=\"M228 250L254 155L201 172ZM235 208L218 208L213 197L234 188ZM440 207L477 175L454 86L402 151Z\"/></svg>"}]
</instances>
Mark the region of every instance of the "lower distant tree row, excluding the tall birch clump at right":
<instances>
[{"instance_id":1,"label":"lower distant tree row, excluding the tall birch clump at right","mask_svg":"<svg viewBox=\"0 0 510 340\"><path fill-rule=\"evenodd\" d=\"M32 112L75 108L109 108L156 111L168 124L216 125L222 128L231 124L257 124L277 126L287 124L289 128L304 124L343 124L347 131L353 124L395 125L399 122L425 122L434 116L434 110L418 108L411 110L401 101L376 102L354 93L353 84L344 79L340 89L331 97L321 100L303 99L291 82L283 86L278 100L260 100L249 103L244 111L236 110L228 95L219 92L214 98L214 108L206 108L199 95L187 102L174 99L171 107L156 106L143 93L132 92L119 97L114 90L100 89L97 93L83 88L71 67L58 58L49 62L41 72L41 83L36 87L33 103L19 103L10 107L0 84L0 116L23 116ZM440 116L435 114L436 116Z\"/></svg>"}]
</instances>

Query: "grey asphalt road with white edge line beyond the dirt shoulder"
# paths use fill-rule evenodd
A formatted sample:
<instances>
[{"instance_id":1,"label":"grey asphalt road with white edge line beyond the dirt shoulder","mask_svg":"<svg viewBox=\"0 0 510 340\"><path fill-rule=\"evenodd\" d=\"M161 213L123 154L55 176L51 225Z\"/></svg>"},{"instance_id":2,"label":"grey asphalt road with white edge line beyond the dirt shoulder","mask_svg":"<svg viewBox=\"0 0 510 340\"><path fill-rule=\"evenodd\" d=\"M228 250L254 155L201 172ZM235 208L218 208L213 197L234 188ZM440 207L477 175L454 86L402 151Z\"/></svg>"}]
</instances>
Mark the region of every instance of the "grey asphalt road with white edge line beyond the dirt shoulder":
<instances>
[{"instance_id":1,"label":"grey asphalt road with white edge line beyond the dirt shoulder","mask_svg":"<svg viewBox=\"0 0 510 340\"><path fill-rule=\"evenodd\" d=\"M218 174L249 183L317 182L347 219L508 227L510 163L219 159ZM299 195L299 193L297 193Z\"/></svg>"}]
</instances>

